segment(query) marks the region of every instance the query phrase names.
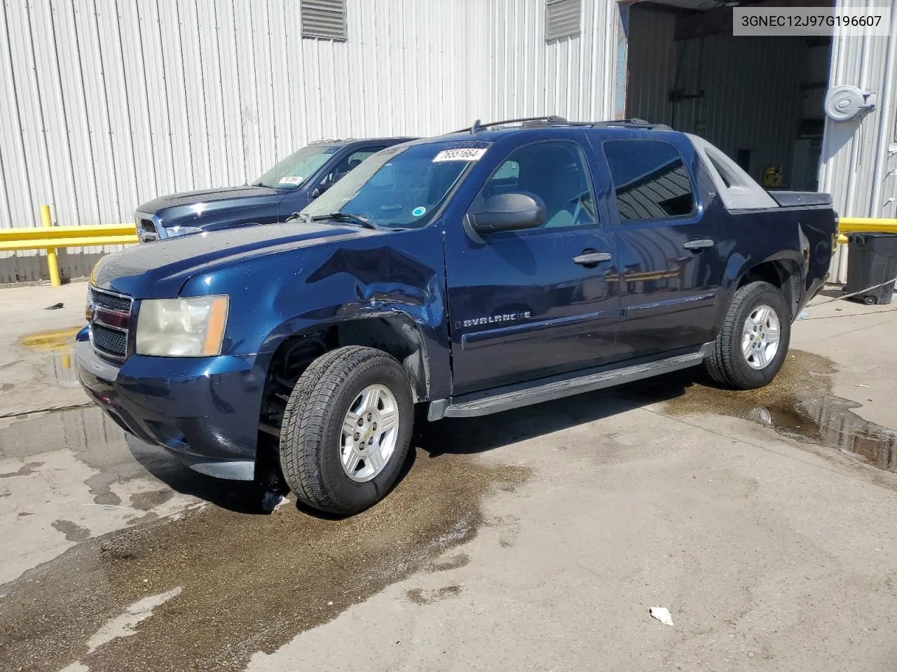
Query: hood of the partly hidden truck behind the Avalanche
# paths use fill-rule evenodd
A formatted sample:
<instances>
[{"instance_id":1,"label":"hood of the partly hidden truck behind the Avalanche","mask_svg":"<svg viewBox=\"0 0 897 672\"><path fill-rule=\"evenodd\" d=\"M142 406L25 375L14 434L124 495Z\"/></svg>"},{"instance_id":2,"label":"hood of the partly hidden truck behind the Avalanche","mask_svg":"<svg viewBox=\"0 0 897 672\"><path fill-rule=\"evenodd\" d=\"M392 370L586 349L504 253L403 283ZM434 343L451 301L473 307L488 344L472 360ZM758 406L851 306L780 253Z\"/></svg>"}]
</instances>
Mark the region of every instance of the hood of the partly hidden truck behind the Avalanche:
<instances>
[{"instance_id":1,"label":"hood of the partly hidden truck behind the Avalanche","mask_svg":"<svg viewBox=\"0 0 897 672\"><path fill-rule=\"evenodd\" d=\"M225 186L184 194L161 196L145 202L136 211L156 215L162 226L185 224L210 211L247 208L280 202L286 192L267 186Z\"/></svg>"}]
</instances>

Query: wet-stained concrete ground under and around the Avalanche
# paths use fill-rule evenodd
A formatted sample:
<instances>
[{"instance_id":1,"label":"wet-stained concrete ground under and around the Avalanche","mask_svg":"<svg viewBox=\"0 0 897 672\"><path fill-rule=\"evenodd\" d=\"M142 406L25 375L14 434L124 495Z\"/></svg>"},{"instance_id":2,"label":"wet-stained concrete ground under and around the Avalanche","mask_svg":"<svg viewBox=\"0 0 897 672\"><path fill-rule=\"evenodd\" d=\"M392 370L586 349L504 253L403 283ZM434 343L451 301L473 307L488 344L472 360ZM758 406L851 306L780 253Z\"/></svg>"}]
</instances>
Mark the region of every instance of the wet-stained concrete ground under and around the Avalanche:
<instances>
[{"instance_id":1,"label":"wet-stained concrete ground under and around the Avalanche","mask_svg":"<svg viewBox=\"0 0 897 672\"><path fill-rule=\"evenodd\" d=\"M443 421L328 520L126 441L83 285L0 289L0 669L893 670L897 306L825 294L762 391Z\"/></svg>"}]
</instances>

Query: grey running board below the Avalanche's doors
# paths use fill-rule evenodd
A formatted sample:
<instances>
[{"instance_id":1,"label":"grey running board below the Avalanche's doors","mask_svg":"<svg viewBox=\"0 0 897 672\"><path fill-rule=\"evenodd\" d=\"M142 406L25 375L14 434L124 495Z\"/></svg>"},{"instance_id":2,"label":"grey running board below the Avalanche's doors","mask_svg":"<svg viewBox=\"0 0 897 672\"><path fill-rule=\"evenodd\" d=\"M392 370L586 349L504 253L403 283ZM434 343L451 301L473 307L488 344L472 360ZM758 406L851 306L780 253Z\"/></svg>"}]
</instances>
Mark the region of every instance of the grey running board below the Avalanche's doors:
<instances>
[{"instance_id":1,"label":"grey running board below the Avalanche's doors","mask_svg":"<svg viewBox=\"0 0 897 672\"><path fill-rule=\"evenodd\" d=\"M641 362L623 368L602 366L593 369L594 373L577 372L576 375L553 376L544 383L532 383L529 386L514 385L498 388L486 394L476 392L455 397L452 400L433 401L430 405L429 419L440 418L475 418L502 410L518 409L521 406L562 399L581 392L593 392L605 387L614 387L623 383L652 378L679 371L690 366L701 364L712 344L705 345L698 351L676 355L666 359Z\"/></svg>"}]
</instances>

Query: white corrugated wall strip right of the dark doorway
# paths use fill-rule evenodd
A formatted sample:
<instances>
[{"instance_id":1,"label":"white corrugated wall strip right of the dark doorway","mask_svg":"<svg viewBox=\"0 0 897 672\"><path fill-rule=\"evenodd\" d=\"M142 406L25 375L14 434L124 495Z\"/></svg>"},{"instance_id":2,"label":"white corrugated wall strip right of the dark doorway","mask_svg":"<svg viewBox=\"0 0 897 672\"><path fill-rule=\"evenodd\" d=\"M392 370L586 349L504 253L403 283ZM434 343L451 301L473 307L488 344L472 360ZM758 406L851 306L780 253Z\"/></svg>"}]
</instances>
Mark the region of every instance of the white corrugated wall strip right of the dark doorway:
<instances>
[{"instance_id":1,"label":"white corrugated wall strip right of the dark doorway","mask_svg":"<svg viewBox=\"0 0 897 672\"><path fill-rule=\"evenodd\" d=\"M882 0L839 0L839 6L887 5ZM875 112L860 121L825 122L820 191L843 216L897 217L897 11L890 37L836 35L830 83L875 91ZM833 277L847 279L847 250L839 246Z\"/></svg>"}]
</instances>

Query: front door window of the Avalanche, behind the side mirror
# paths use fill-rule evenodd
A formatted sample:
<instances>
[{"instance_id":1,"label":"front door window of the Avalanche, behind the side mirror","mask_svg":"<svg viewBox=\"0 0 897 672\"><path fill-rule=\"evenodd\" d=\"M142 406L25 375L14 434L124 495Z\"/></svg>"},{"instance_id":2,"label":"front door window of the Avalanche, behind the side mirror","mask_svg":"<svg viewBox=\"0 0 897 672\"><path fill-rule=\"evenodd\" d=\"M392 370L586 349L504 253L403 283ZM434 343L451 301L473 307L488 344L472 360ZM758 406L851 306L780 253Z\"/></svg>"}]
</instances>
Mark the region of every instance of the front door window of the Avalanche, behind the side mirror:
<instances>
[{"instance_id":1,"label":"front door window of the Avalanche, behind the side mirror","mask_svg":"<svg viewBox=\"0 0 897 672\"><path fill-rule=\"evenodd\" d=\"M574 142L536 142L512 151L486 180L473 208L496 194L526 192L545 204L542 228L595 224L595 194L586 161Z\"/></svg>"}]
</instances>

